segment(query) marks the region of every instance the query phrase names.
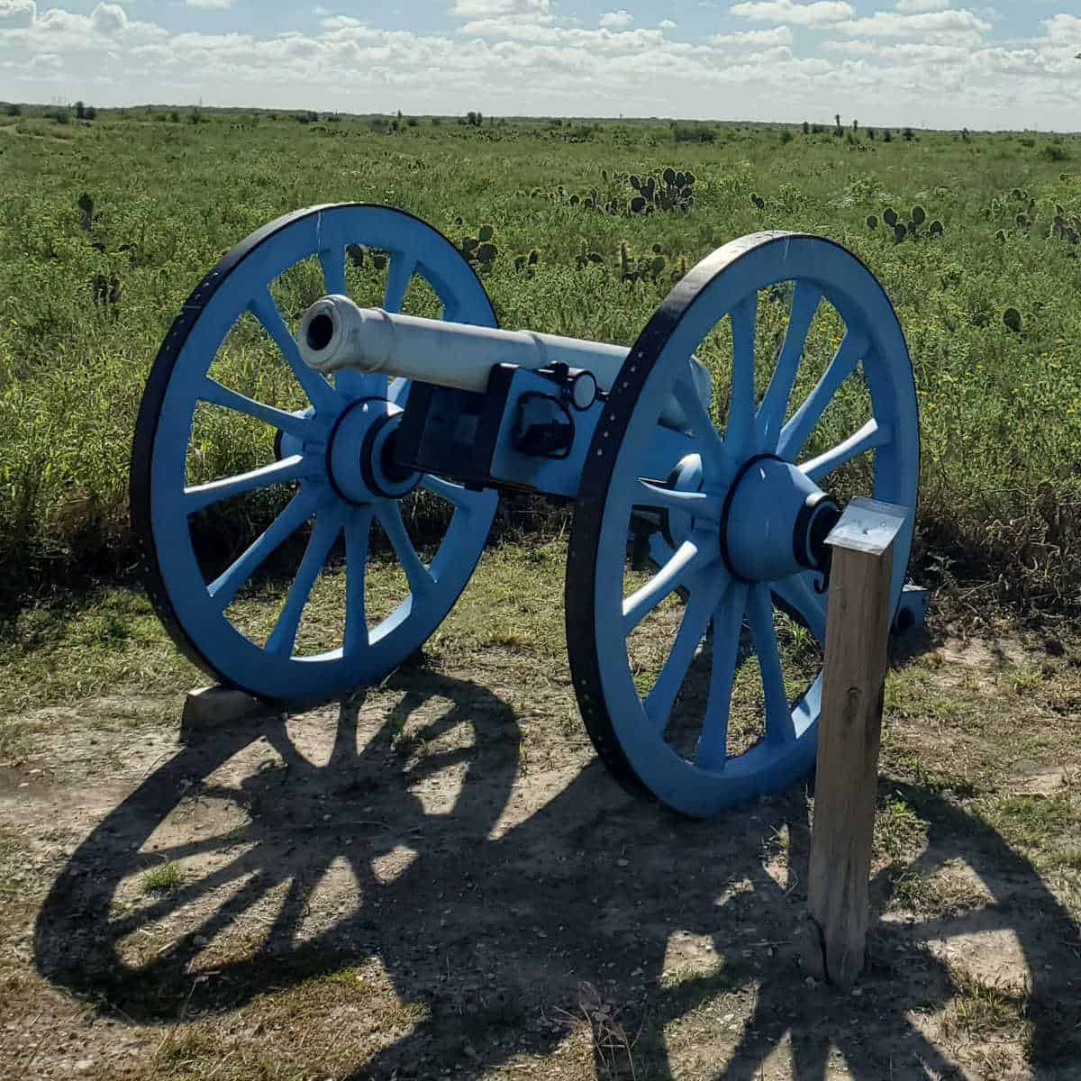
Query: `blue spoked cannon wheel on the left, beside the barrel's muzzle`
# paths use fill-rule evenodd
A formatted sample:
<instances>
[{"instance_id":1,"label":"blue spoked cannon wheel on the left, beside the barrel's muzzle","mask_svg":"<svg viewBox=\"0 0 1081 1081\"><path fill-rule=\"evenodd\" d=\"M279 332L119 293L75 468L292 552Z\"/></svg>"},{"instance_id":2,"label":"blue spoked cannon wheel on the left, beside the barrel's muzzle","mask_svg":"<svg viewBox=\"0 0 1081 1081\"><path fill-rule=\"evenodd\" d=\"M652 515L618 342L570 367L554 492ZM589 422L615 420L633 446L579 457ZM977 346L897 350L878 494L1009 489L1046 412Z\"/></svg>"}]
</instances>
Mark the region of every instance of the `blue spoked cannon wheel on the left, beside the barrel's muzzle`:
<instances>
[{"instance_id":1,"label":"blue spoked cannon wheel on the left, beside the barrel's muzzle","mask_svg":"<svg viewBox=\"0 0 1081 1081\"><path fill-rule=\"evenodd\" d=\"M344 372L331 383L301 360L275 283L305 261L318 261L317 295L346 294L347 261L363 261L365 251L371 259L371 250L379 253L385 270L378 301L387 310L401 309L416 279L426 283L426 295L444 319L495 325L472 268L437 230L384 206L317 206L259 229L203 279L158 353L139 411L131 512L150 598L190 659L222 682L270 700L315 702L385 677L445 617L477 564L495 513L494 492L470 492L395 468L388 446L409 393L405 381L388 384L385 376ZM279 370L286 365L299 409L255 400L213 377L223 342L239 321L251 319L262 325L268 347L270 342L276 347L272 363ZM269 461L192 484L188 462L197 409L211 409L219 425L233 425L238 432L253 421L277 429ZM417 486L437 503L445 501L443 519L449 519L427 563L400 508L400 499ZM193 540L193 517L226 501L265 501L271 489L279 499L266 528L227 566L208 573ZM365 613L373 523L386 535L409 589L378 622ZM276 550L305 532L295 577L272 630L261 641L262 635L237 625L230 604ZM305 654L297 646L303 613L324 565L343 547L341 640Z\"/></svg>"}]
</instances>

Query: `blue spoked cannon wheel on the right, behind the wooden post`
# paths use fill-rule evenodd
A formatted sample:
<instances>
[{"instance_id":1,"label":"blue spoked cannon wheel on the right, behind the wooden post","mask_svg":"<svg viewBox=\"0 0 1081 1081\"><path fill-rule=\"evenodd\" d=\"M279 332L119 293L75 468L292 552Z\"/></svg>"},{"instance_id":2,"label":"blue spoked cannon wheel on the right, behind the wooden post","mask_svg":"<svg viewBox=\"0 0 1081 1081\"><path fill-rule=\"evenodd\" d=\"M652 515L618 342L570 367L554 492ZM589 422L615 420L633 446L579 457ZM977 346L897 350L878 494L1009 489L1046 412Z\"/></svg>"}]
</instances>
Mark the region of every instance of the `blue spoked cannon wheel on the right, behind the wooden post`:
<instances>
[{"instance_id":1,"label":"blue spoked cannon wheel on the right, behind the wooden post","mask_svg":"<svg viewBox=\"0 0 1081 1081\"><path fill-rule=\"evenodd\" d=\"M760 291L788 307L772 375L772 358L757 345ZM833 320L839 348L830 347L812 388L806 343L819 310ZM726 403L719 430L695 392L690 358L724 319L731 385L715 387L715 400ZM850 414L857 403L852 426L823 445L823 414L845 395ZM671 396L683 406L686 442L679 462L657 462L652 433ZM782 613L795 616L819 646L825 641L825 583L811 568L819 565L836 507L818 485L850 463L866 463L867 454L870 491L845 494L915 508L919 416L908 350L889 298L855 256L820 238L763 232L719 249L675 286L606 403L583 472L568 561L568 646L578 704L600 757L627 787L709 816L779 791L813 768L820 663L800 672L793 693L776 622ZM650 544L655 573L628 588L623 553L642 508L666 530ZM909 525L895 548L894 605L910 544ZM677 595L685 602L681 612ZM643 686L629 642L662 604L679 618L655 680ZM732 703L752 656L760 726L740 747L730 729ZM689 672L707 657L708 680L689 694Z\"/></svg>"}]
</instances>

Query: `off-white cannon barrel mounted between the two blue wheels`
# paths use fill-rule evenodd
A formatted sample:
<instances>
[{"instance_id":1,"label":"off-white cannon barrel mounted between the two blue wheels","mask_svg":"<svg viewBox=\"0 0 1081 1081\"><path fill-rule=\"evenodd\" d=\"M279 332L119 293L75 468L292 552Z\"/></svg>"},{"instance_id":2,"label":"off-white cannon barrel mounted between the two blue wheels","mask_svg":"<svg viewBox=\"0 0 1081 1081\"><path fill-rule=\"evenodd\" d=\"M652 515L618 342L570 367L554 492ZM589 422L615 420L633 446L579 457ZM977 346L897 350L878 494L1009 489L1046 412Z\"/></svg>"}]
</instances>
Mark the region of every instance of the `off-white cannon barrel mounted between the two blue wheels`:
<instances>
[{"instance_id":1,"label":"off-white cannon barrel mounted between the two blue wheels","mask_svg":"<svg viewBox=\"0 0 1081 1081\"><path fill-rule=\"evenodd\" d=\"M382 372L482 393L496 364L530 370L566 364L591 372L601 390L611 390L630 352L625 346L556 334L397 316L382 308L358 307L339 295L324 296L308 308L297 337L304 362L317 372ZM698 393L708 408L712 379L697 359L692 358L692 366ZM683 409L673 398L660 419L671 427L683 426Z\"/></svg>"}]
</instances>

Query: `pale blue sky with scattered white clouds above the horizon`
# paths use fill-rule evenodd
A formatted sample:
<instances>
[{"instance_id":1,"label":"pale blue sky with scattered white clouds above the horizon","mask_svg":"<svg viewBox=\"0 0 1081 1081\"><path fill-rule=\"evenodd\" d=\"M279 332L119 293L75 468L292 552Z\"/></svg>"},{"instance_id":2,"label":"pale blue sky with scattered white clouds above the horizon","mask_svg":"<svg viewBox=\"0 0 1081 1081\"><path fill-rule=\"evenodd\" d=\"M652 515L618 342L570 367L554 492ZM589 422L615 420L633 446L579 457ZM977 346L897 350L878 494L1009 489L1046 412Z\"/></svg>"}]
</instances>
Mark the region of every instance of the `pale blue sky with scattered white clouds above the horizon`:
<instances>
[{"instance_id":1,"label":"pale blue sky with scattered white clouds above the horizon","mask_svg":"<svg viewBox=\"0 0 1081 1081\"><path fill-rule=\"evenodd\" d=\"M1081 0L0 0L0 99L1081 130Z\"/></svg>"}]
</instances>

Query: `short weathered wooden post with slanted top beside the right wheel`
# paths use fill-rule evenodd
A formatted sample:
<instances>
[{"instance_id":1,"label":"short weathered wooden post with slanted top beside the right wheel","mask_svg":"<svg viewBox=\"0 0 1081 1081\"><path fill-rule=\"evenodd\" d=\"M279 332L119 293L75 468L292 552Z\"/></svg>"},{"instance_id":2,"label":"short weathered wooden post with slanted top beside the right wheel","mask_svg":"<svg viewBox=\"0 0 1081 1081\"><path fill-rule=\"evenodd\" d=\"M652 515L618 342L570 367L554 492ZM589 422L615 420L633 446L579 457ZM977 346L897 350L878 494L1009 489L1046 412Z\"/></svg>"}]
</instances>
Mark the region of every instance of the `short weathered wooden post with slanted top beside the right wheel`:
<instances>
[{"instance_id":1,"label":"short weathered wooden post with slanted top beside the right wheel","mask_svg":"<svg viewBox=\"0 0 1081 1081\"><path fill-rule=\"evenodd\" d=\"M833 549L803 966L851 987L864 966L893 542L908 510L853 499Z\"/></svg>"}]
</instances>

